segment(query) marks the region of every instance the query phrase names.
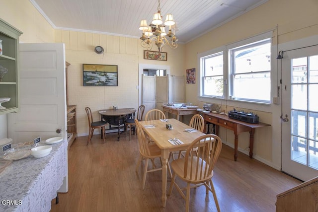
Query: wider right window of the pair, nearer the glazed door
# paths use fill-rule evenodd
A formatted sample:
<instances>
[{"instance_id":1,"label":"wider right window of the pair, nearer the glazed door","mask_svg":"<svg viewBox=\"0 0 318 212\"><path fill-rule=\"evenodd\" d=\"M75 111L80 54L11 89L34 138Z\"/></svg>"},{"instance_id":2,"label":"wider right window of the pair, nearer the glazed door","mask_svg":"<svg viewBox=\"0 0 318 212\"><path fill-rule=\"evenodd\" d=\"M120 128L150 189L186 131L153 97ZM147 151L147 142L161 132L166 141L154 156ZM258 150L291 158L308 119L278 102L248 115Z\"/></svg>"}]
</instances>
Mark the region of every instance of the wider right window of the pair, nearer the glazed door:
<instances>
[{"instance_id":1,"label":"wider right window of the pair, nearer the glazed door","mask_svg":"<svg viewBox=\"0 0 318 212\"><path fill-rule=\"evenodd\" d=\"M229 50L230 95L235 99L270 102L270 39Z\"/></svg>"}]
</instances>

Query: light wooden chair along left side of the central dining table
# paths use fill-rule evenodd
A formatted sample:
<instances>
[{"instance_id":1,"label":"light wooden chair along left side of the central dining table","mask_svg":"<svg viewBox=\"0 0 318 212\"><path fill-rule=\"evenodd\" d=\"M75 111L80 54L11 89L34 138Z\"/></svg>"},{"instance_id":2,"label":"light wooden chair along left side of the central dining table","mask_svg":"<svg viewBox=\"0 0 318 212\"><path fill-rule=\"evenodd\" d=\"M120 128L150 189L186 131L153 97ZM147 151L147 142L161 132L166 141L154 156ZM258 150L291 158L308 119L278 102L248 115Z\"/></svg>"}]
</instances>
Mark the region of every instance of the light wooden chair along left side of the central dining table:
<instances>
[{"instance_id":1,"label":"light wooden chair along left side of the central dining table","mask_svg":"<svg viewBox=\"0 0 318 212\"><path fill-rule=\"evenodd\" d=\"M142 182L142 189L144 190L145 184L146 184L147 173L162 170L162 166L157 168L154 162L153 162L153 169L148 170L149 159L151 159L153 161L155 158L159 158L160 163L161 163L161 149L157 146L156 143L154 143L154 142L150 143L147 140L145 133L142 129L142 126L140 125L140 123L137 119L135 119L135 123L136 123L136 130L137 130L138 143L139 143L139 153L140 153L139 160L138 160L137 166L136 166L136 172L138 172L138 168L141 164L141 161L142 160L146 161L145 162L145 169L144 169L144 173L143 173L143 182ZM162 163L161 163L161 165L162 165ZM172 176L169 163L167 163L167 169L168 169L170 176Z\"/></svg>"}]
</instances>

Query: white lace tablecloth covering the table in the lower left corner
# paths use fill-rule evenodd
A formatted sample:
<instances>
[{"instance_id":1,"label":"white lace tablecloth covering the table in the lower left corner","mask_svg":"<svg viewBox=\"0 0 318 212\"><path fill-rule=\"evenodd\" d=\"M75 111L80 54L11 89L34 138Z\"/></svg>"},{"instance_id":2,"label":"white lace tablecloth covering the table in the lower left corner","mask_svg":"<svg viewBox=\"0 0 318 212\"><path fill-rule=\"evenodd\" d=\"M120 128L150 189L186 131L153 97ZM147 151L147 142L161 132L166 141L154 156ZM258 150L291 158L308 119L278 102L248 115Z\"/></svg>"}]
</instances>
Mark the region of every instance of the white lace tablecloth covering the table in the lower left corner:
<instances>
[{"instance_id":1,"label":"white lace tablecloth covering the table in the lower left corner","mask_svg":"<svg viewBox=\"0 0 318 212\"><path fill-rule=\"evenodd\" d=\"M43 141L40 145L48 145ZM67 141L51 144L48 156L12 161L0 173L0 212L49 212L68 173Z\"/></svg>"}]
</instances>

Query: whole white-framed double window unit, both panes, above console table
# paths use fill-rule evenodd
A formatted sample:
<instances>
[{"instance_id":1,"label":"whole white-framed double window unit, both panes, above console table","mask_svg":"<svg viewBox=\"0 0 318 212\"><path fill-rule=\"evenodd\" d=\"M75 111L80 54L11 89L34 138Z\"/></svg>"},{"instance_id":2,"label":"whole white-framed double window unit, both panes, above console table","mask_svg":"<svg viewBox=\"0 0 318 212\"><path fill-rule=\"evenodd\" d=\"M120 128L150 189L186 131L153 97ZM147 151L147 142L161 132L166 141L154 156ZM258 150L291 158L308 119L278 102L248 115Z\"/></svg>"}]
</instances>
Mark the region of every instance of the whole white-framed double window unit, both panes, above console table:
<instances>
[{"instance_id":1,"label":"whole white-framed double window unit, both panes, above console table","mask_svg":"<svg viewBox=\"0 0 318 212\"><path fill-rule=\"evenodd\" d=\"M200 96L270 103L270 33L198 55Z\"/></svg>"}]
</instances>

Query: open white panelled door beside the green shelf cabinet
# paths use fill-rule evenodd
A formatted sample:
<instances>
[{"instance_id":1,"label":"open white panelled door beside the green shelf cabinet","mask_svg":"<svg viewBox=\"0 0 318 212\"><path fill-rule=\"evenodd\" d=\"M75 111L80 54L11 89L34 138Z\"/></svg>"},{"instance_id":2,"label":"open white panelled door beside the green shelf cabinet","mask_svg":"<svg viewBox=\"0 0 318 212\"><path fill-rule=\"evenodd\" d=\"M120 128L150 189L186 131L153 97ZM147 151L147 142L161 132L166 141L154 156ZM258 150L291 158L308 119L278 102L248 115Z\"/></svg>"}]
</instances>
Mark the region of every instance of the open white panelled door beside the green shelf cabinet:
<instances>
[{"instance_id":1,"label":"open white panelled door beside the green shelf cabinet","mask_svg":"<svg viewBox=\"0 0 318 212\"><path fill-rule=\"evenodd\" d=\"M20 44L20 111L8 114L8 138L13 142L57 136L67 140L65 87L64 44Z\"/></svg>"}]
</instances>

